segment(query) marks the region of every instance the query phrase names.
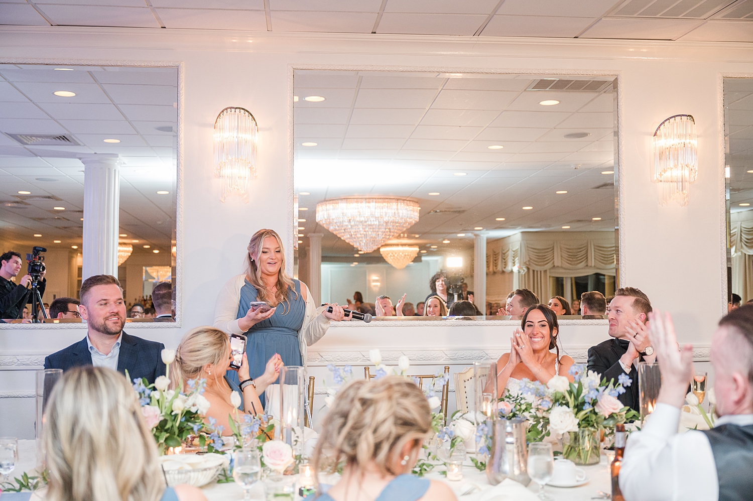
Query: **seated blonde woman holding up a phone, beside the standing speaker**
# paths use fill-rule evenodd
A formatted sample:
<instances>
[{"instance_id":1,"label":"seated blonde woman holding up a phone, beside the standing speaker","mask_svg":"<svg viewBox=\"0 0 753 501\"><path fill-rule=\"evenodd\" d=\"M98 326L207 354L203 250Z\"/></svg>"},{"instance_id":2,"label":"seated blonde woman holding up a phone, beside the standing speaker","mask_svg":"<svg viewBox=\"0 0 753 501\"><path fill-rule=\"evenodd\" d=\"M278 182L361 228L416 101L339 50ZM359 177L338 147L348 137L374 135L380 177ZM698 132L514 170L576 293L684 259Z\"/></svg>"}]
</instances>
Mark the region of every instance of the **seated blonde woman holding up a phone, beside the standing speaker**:
<instances>
[{"instance_id":1,"label":"seated blonde woman holding up a phone, beside the standing speaker","mask_svg":"<svg viewBox=\"0 0 753 501\"><path fill-rule=\"evenodd\" d=\"M233 354L230 350L230 339L223 331L214 327L197 327L188 331L183 336L181 344L175 350L175 363L170 364L170 387L178 388L183 384L181 391L187 390L188 380L206 379L204 398L209 401L209 411L204 420L209 423L209 418L217 420L223 426L222 434L231 435L232 431L227 420L228 414L234 414L236 410L261 414L263 408L259 402L259 394L264 392L279 376L282 360L275 354L267 362L264 374L251 380L248 377L248 359L243 354L243 362L239 369L230 368ZM251 380L244 384L243 389L227 377L227 371L238 371L240 380ZM233 392L237 392L240 405L236 408L232 402Z\"/></svg>"}]
</instances>

